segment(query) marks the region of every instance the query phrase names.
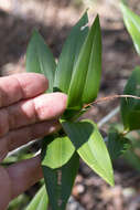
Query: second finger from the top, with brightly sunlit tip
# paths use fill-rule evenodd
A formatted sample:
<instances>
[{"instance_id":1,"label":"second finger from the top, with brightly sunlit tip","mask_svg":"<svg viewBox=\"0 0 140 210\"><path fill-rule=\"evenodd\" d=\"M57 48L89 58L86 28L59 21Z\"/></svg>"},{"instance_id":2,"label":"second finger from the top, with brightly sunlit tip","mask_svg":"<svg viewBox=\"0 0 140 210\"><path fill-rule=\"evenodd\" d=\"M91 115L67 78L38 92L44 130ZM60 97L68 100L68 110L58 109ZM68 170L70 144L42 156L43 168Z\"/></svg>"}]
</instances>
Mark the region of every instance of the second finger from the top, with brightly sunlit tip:
<instances>
[{"instance_id":1,"label":"second finger from the top, with brightly sunlit tip","mask_svg":"<svg viewBox=\"0 0 140 210\"><path fill-rule=\"evenodd\" d=\"M66 108L66 95L43 94L0 109L0 136L9 130L42 120L57 118Z\"/></svg>"}]
</instances>

